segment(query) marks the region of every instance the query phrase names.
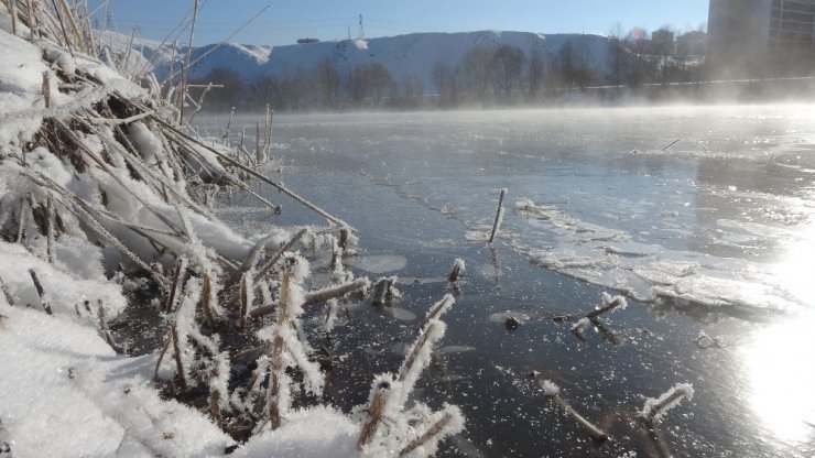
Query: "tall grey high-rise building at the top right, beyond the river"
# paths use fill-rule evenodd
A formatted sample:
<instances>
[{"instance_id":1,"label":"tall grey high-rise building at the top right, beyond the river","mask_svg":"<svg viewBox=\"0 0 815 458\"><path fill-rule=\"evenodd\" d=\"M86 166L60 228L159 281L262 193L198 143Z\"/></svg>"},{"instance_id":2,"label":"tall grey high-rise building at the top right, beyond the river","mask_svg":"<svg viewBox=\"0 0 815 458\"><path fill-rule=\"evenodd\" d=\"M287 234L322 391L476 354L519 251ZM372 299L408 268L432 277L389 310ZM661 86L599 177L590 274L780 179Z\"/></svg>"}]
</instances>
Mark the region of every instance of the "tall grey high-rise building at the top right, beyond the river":
<instances>
[{"instance_id":1,"label":"tall grey high-rise building at the top right, beyond the river","mask_svg":"<svg viewBox=\"0 0 815 458\"><path fill-rule=\"evenodd\" d=\"M815 0L710 0L711 76L748 77L770 62L815 50Z\"/></svg>"}]
</instances>

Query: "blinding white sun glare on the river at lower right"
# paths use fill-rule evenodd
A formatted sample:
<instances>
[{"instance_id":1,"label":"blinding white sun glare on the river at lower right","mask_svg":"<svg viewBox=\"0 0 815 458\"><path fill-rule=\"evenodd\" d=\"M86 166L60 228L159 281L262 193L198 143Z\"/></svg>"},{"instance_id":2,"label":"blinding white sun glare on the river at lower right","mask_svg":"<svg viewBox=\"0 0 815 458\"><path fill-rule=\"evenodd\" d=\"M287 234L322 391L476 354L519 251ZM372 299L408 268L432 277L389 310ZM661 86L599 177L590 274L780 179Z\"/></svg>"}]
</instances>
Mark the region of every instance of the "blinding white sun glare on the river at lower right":
<instances>
[{"instance_id":1,"label":"blinding white sun glare on the river at lower right","mask_svg":"<svg viewBox=\"0 0 815 458\"><path fill-rule=\"evenodd\" d=\"M815 312L769 325L745 349L750 405L779 439L797 444L812 438L815 417L815 348L809 326Z\"/></svg>"}]
</instances>

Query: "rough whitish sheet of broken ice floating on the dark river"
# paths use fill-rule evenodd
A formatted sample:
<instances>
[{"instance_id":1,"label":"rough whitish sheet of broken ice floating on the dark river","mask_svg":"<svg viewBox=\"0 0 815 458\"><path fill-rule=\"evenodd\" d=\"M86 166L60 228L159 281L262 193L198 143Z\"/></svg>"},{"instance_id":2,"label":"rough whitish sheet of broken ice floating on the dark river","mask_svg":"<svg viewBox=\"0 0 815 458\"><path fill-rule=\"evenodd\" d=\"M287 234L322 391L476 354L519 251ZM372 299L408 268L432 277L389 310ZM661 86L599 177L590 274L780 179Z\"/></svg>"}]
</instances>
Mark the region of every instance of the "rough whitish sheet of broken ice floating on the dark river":
<instances>
[{"instance_id":1,"label":"rough whitish sheet of broken ice floating on the dark river","mask_svg":"<svg viewBox=\"0 0 815 458\"><path fill-rule=\"evenodd\" d=\"M671 250L635 241L624 231L585 223L555 206L531 200L515 204L518 215L534 230L545 231L555 243L539 246L532 236L513 238L513 248L536 264L586 282L622 291L643 302L666 296L707 306L739 306L792 310L802 297L784 287L784 279L771 265L698 251ZM763 237L783 240L795 233L784 228L722 221L729 229L721 238L747 232L752 240ZM742 247L743 240L734 240ZM551 243L551 242L550 242Z\"/></svg>"}]
</instances>

